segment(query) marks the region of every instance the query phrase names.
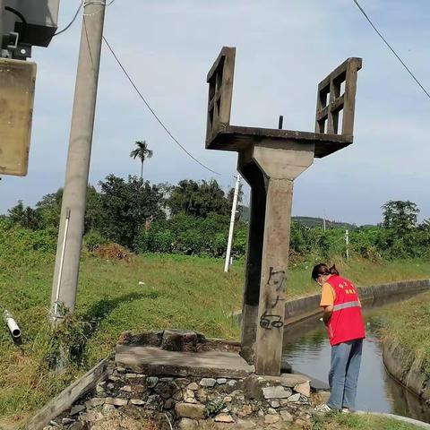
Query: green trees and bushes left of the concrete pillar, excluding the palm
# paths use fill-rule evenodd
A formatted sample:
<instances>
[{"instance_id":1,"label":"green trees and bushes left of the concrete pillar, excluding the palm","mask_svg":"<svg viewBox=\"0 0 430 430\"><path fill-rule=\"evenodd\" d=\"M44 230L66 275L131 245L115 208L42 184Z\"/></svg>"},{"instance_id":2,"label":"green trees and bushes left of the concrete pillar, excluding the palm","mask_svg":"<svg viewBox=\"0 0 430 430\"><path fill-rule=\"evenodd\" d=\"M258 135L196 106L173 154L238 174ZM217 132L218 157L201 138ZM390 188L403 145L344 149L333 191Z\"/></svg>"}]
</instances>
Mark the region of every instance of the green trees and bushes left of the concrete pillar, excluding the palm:
<instances>
[{"instance_id":1,"label":"green trees and bushes left of the concrete pillar, excluding the palm","mask_svg":"<svg viewBox=\"0 0 430 430\"><path fill-rule=\"evenodd\" d=\"M225 192L216 180L151 185L138 176L115 175L100 181L98 188L87 189L84 233L91 249L115 242L134 252L225 252L234 189ZM34 208L20 201L3 218L30 230L56 229L62 197L60 188ZM244 254L245 222L238 220L236 236L236 254Z\"/></svg>"}]
</instances>

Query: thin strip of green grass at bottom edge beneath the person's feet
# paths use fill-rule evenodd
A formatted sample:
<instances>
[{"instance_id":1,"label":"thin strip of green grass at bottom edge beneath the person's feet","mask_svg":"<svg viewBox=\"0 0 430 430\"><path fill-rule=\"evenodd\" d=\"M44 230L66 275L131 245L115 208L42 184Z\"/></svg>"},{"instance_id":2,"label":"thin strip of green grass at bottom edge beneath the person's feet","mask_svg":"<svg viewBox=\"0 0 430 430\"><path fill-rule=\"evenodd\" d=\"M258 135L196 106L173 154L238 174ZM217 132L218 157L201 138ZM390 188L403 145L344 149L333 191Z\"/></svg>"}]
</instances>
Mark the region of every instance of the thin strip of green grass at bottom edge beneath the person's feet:
<instances>
[{"instance_id":1,"label":"thin strip of green grass at bottom edge beneath the person's feet","mask_svg":"<svg viewBox=\"0 0 430 430\"><path fill-rule=\"evenodd\" d=\"M373 415L333 414L315 418L313 430L417 430L417 426Z\"/></svg>"}]
</instances>

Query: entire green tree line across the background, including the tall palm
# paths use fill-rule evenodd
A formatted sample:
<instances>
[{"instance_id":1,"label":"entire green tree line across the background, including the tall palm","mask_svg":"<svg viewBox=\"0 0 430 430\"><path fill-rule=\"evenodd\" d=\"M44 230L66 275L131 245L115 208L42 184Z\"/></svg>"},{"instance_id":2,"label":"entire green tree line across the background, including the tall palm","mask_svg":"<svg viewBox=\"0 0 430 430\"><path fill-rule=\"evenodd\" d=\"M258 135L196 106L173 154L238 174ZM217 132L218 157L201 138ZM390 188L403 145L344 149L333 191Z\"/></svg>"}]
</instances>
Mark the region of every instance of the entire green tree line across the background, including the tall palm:
<instances>
[{"instance_id":1,"label":"entire green tree line across the background, including the tall palm","mask_svg":"<svg viewBox=\"0 0 430 430\"><path fill-rule=\"evenodd\" d=\"M223 256L228 241L229 212L234 188L225 192L216 180L184 179L177 185L143 180L143 164L153 155L147 142L135 142L130 157L141 163L140 176L126 179L108 175L99 189L89 185L84 219L84 243L90 251L116 243L136 253ZM239 201L242 190L239 192ZM60 216L63 189L45 195L35 208L18 202L0 216L1 228L44 232L37 246L49 248ZM245 208L245 210L248 208ZM417 222L419 209L409 201L390 201L377 226L352 228L349 254L368 259L430 256L430 220ZM293 260L327 259L346 254L345 228L292 222L290 254ZM248 223L237 217L233 254L245 255ZM49 244L43 241L50 237Z\"/></svg>"}]
</instances>

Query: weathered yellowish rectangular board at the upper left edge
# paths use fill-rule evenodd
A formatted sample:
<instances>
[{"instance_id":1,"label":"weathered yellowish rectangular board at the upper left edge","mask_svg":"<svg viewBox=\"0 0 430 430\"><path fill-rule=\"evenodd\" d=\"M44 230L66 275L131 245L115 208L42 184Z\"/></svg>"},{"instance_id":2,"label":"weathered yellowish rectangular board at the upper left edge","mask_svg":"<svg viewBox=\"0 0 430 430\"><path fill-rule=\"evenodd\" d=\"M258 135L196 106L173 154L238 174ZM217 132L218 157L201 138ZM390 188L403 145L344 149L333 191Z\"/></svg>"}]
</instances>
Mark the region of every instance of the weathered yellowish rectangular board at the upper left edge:
<instances>
[{"instance_id":1,"label":"weathered yellowish rectangular board at the upper left edge","mask_svg":"<svg viewBox=\"0 0 430 430\"><path fill-rule=\"evenodd\" d=\"M36 64L0 58L0 175L27 175L35 82Z\"/></svg>"}]
</instances>

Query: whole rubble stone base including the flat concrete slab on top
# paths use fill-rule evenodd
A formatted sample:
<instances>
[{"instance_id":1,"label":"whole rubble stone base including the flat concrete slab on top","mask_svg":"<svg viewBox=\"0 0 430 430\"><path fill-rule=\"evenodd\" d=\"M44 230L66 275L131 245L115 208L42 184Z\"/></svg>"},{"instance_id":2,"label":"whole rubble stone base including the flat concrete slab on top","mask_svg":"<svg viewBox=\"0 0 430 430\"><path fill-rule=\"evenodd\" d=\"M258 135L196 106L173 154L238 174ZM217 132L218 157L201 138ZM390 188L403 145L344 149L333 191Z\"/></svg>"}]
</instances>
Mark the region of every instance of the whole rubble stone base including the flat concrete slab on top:
<instances>
[{"instance_id":1,"label":"whole rubble stone base including the flat concrete slab on top","mask_svg":"<svg viewBox=\"0 0 430 430\"><path fill-rule=\"evenodd\" d=\"M125 348L125 354L118 352ZM202 366L208 354L222 366ZM160 364L166 357L167 366ZM207 340L193 331L126 332L106 379L45 430L310 428L322 394L311 392L309 379L262 377L252 368L232 342Z\"/></svg>"}]
</instances>

